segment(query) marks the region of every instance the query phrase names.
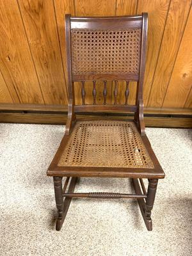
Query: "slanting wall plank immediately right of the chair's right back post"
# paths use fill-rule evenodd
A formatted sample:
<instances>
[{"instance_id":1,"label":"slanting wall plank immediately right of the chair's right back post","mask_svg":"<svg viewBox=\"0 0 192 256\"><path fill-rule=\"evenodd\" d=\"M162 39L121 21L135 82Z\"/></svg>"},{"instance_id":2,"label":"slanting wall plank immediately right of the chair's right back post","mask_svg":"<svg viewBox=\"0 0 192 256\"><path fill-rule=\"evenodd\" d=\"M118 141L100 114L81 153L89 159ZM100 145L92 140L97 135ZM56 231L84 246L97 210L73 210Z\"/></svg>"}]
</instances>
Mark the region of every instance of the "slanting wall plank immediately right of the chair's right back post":
<instances>
[{"instance_id":1,"label":"slanting wall plank immediately right of the chair's right back post","mask_svg":"<svg viewBox=\"0 0 192 256\"><path fill-rule=\"evenodd\" d=\"M148 12L147 61L143 85L144 106L148 103L169 6L170 0L138 1L137 13Z\"/></svg>"}]
</instances>

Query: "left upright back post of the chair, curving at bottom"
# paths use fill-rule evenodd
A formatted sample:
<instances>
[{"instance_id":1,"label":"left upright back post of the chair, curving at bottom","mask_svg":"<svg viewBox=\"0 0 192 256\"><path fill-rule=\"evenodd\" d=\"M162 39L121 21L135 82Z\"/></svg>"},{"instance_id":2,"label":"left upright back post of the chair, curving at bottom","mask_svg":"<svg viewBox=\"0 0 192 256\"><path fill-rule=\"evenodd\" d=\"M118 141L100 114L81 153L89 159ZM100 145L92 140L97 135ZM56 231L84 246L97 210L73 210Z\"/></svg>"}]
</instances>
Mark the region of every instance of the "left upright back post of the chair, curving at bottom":
<instances>
[{"instance_id":1,"label":"left upright back post of the chair, curving at bottom","mask_svg":"<svg viewBox=\"0 0 192 256\"><path fill-rule=\"evenodd\" d=\"M75 96L74 83L72 82L72 63L71 63L71 36L70 36L70 14L65 15L65 38L67 53L67 74L68 74L68 118L65 127L65 134L70 134L72 122L76 120L74 113Z\"/></svg>"}]
</instances>

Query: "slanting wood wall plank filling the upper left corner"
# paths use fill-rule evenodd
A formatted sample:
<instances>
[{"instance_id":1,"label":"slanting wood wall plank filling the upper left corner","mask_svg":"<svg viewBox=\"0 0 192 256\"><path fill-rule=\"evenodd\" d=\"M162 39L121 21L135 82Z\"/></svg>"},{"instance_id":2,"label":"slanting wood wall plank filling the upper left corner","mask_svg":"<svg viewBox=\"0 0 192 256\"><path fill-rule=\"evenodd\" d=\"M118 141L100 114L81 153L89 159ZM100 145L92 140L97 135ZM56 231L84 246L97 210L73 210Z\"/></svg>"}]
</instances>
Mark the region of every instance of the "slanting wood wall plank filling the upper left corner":
<instances>
[{"instance_id":1,"label":"slanting wood wall plank filling the upper left corner","mask_svg":"<svg viewBox=\"0 0 192 256\"><path fill-rule=\"evenodd\" d=\"M17 1L0 6L0 68L12 99L44 103Z\"/></svg>"}]
</instances>

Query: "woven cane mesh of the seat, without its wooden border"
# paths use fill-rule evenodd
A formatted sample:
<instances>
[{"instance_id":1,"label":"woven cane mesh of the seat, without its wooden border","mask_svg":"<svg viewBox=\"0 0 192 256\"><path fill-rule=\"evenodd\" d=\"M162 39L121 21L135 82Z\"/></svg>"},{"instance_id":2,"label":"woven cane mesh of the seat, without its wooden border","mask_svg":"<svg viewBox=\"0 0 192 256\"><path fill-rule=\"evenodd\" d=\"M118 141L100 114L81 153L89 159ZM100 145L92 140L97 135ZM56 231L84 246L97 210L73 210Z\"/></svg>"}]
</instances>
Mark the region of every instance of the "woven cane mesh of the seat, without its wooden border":
<instances>
[{"instance_id":1,"label":"woven cane mesh of the seat, without its wooden border","mask_svg":"<svg viewBox=\"0 0 192 256\"><path fill-rule=\"evenodd\" d=\"M77 122L58 166L154 168L133 123L102 120Z\"/></svg>"}]
</instances>

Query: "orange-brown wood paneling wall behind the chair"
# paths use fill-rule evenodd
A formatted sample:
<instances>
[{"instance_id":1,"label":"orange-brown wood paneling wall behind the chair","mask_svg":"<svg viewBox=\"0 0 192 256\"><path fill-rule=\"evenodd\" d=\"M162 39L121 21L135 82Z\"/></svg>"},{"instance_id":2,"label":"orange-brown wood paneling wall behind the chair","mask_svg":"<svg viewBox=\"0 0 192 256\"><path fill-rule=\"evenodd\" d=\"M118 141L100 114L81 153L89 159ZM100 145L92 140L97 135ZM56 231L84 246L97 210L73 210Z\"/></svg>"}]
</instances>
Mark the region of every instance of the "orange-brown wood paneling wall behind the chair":
<instances>
[{"instance_id":1,"label":"orange-brown wood paneling wall behind the chair","mask_svg":"<svg viewBox=\"0 0 192 256\"><path fill-rule=\"evenodd\" d=\"M67 104L65 13L141 12L148 12L149 19L145 107L192 108L191 0L0 0L0 102ZM89 84L87 103L92 102ZM134 85L129 103L134 102ZM108 83L108 102L113 102L113 86ZM97 93L100 100L102 92ZM124 102L124 95L118 102ZM78 83L76 103L81 103Z\"/></svg>"}]
</instances>

